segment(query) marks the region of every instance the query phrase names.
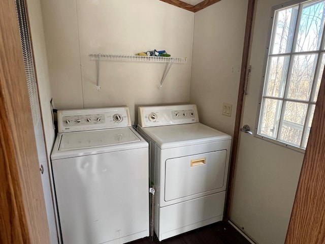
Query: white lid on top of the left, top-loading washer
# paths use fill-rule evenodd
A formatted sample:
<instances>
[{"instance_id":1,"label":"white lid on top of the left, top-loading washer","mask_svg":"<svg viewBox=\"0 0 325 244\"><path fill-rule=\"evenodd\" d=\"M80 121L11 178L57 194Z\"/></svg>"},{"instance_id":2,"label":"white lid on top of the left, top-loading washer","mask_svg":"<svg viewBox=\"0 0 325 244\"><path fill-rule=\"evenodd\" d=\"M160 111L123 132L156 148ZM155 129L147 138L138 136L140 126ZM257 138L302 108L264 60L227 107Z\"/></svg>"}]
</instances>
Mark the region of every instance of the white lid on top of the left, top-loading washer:
<instances>
[{"instance_id":1,"label":"white lid on top of the left, top-loading washer","mask_svg":"<svg viewBox=\"0 0 325 244\"><path fill-rule=\"evenodd\" d=\"M59 150L74 150L140 141L131 128L63 133Z\"/></svg>"}]
</instances>

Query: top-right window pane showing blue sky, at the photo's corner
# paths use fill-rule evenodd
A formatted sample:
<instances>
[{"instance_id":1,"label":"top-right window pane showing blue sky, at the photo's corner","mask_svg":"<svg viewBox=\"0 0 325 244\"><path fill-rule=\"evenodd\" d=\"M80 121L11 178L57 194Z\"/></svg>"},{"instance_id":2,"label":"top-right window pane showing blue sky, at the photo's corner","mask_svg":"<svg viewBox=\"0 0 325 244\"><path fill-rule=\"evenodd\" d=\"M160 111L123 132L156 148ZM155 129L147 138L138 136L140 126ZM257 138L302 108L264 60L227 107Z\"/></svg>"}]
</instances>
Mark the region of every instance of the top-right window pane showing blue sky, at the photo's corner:
<instances>
[{"instance_id":1,"label":"top-right window pane showing blue sky, at the photo's corner","mask_svg":"<svg viewBox=\"0 0 325 244\"><path fill-rule=\"evenodd\" d=\"M303 5L296 52L319 49L320 37L324 27L324 2L317 1Z\"/></svg>"}]
</instances>

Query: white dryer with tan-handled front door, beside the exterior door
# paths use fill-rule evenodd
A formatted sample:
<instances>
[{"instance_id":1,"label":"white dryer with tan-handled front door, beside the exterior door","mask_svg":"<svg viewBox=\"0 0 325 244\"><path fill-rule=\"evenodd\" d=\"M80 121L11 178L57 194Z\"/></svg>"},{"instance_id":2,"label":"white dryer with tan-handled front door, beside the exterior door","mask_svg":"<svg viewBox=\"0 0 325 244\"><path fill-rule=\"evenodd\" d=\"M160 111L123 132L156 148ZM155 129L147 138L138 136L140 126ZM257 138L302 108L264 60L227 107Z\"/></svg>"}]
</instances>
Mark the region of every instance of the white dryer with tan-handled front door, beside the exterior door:
<instances>
[{"instance_id":1,"label":"white dryer with tan-handled front door, beside the exterior door","mask_svg":"<svg viewBox=\"0 0 325 244\"><path fill-rule=\"evenodd\" d=\"M159 240L223 218L231 136L199 123L196 105L139 107L149 142Z\"/></svg>"}]
</instances>

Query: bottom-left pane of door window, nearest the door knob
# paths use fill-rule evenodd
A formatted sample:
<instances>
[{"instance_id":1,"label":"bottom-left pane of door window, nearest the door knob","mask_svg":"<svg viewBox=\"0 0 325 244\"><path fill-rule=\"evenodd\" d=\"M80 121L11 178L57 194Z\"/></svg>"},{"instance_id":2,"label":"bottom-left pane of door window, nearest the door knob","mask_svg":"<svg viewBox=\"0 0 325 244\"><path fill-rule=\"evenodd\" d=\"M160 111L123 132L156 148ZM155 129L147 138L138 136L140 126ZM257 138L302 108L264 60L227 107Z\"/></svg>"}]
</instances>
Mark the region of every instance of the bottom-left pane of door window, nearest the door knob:
<instances>
[{"instance_id":1,"label":"bottom-left pane of door window, nearest the door knob","mask_svg":"<svg viewBox=\"0 0 325 244\"><path fill-rule=\"evenodd\" d=\"M276 138L279 127L279 118L282 101L275 99L264 99L262 118L259 124L259 134Z\"/></svg>"}]
</instances>

